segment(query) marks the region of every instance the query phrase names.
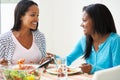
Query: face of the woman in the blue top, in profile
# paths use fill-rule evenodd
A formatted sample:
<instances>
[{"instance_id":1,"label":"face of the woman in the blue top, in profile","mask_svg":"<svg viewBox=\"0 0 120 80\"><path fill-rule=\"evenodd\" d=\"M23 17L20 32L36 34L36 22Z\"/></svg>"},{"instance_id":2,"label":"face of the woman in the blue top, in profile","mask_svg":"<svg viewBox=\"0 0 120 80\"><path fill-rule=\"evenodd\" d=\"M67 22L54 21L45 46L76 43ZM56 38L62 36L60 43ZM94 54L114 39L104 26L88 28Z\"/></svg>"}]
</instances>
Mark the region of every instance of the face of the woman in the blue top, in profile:
<instances>
[{"instance_id":1,"label":"face of the woman in the blue top, in profile","mask_svg":"<svg viewBox=\"0 0 120 80\"><path fill-rule=\"evenodd\" d=\"M93 21L91 17L84 11L82 16L81 27L83 27L83 31L85 35L92 35L93 33Z\"/></svg>"}]
</instances>

